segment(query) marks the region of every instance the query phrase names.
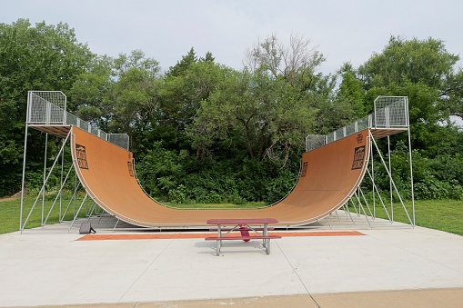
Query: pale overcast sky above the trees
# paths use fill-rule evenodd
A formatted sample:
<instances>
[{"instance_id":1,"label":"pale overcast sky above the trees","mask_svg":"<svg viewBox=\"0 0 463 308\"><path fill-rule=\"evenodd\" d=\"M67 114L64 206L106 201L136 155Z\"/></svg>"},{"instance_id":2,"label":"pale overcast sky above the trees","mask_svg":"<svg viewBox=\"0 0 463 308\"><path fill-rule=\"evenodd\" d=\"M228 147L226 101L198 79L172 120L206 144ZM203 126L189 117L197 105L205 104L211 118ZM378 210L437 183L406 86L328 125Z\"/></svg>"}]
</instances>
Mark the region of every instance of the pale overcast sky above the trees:
<instances>
[{"instance_id":1,"label":"pale overcast sky above the trees","mask_svg":"<svg viewBox=\"0 0 463 308\"><path fill-rule=\"evenodd\" d=\"M64 22L98 55L139 49L164 70L191 47L241 69L245 51L259 39L277 35L288 45L291 34L303 35L327 57L320 67L325 74L345 62L364 64L391 35L441 39L461 57L462 12L461 0L0 0L0 23Z\"/></svg>"}]
</instances>

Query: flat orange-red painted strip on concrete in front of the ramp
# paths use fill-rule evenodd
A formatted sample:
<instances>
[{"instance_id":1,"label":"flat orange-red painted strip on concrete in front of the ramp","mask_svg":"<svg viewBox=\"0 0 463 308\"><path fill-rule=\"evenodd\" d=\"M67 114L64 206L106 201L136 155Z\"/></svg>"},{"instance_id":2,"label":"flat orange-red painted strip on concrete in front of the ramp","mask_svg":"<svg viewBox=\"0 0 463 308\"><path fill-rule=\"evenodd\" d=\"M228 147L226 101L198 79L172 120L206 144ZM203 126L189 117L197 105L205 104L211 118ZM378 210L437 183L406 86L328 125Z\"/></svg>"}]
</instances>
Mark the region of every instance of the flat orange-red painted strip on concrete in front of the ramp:
<instances>
[{"instance_id":1,"label":"flat orange-red painted strip on concrete in front of the ramp","mask_svg":"<svg viewBox=\"0 0 463 308\"><path fill-rule=\"evenodd\" d=\"M115 241L115 240L157 240L157 239L184 239L184 238L205 238L216 233L149 233L149 234L88 234L77 241ZM357 236L365 235L357 231L323 231L323 232L272 232L271 235L281 237L293 236Z\"/></svg>"}]
</instances>

